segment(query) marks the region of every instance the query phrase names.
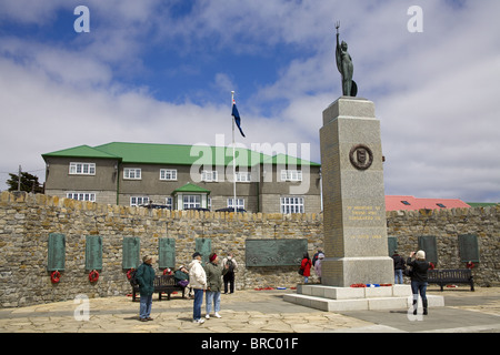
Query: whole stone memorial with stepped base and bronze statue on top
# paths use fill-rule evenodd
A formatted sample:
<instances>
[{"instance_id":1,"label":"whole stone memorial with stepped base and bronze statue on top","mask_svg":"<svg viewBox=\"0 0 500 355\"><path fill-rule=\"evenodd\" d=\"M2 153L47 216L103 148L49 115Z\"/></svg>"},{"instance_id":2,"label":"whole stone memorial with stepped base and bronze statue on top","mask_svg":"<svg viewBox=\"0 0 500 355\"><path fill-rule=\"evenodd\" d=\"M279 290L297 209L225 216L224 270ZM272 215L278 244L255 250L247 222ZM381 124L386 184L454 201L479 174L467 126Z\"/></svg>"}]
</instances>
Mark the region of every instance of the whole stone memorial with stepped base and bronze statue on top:
<instances>
[{"instance_id":1,"label":"whole stone memorial with stepped base and bronze statue on top","mask_svg":"<svg viewBox=\"0 0 500 355\"><path fill-rule=\"evenodd\" d=\"M373 102L354 97L352 58L346 42L339 44L339 28L337 22L343 95L323 111L320 129L326 255L321 285L298 285L297 295L284 300L323 311L404 308L411 306L410 286L392 285L380 121ZM359 285L363 287L353 287Z\"/></svg>"}]
</instances>

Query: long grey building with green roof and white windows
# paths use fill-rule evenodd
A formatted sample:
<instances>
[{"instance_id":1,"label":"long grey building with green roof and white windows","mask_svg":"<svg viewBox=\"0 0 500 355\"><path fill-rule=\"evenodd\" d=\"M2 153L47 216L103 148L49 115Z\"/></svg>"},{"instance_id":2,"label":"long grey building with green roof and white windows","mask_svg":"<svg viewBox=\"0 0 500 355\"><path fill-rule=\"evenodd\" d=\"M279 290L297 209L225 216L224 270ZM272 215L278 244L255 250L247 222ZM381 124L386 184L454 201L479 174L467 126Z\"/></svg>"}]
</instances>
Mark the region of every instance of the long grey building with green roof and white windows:
<instances>
[{"instance_id":1,"label":"long grey building with green roof and white windows","mask_svg":"<svg viewBox=\"0 0 500 355\"><path fill-rule=\"evenodd\" d=\"M320 168L283 153L210 145L112 142L42 154L46 193L173 210L321 211ZM236 196L234 201L234 174Z\"/></svg>"}]
</instances>

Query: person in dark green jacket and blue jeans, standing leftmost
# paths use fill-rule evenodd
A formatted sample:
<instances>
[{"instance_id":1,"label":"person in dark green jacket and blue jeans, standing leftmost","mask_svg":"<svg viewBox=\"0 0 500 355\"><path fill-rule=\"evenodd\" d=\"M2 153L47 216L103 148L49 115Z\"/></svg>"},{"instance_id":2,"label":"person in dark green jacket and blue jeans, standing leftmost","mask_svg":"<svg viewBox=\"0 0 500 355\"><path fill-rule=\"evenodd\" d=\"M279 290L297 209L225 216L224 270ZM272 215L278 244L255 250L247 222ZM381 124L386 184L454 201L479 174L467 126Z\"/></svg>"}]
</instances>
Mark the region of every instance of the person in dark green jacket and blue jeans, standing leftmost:
<instances>
[{"instance_id":1,"label":"person in dark green jacket and blue jeans, standing leftmost","mask_svg":"<svg viewBox=\"0 0 500 355\"><path fill-rule=\"evenodd\" d=\"M137 268L136 278L139 283L140 306L139 321L147 322L151 318L152 294L154 293L154 270L151 266L152 256L142 257L142 264Z\"/></svg>"}]
</instances>

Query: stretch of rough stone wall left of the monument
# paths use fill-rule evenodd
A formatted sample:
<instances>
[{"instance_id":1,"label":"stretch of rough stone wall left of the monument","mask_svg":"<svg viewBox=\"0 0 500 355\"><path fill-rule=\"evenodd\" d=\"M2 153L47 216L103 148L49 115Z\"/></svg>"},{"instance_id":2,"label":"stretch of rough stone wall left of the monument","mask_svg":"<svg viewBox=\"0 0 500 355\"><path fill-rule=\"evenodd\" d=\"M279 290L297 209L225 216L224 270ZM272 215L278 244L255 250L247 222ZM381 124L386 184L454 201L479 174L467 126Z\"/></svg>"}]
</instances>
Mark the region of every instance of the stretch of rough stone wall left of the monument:
<instances>
[{"instance_id":1,"label":"stretch of rough stone wall left of the monument","mask_svg":"<svg viewBox=\"0 0 500 355\"><path fill-rule=\"evenodd\" d=\"M48 264L50 233L66 235L66 267L52 284ZM96 283L86 271L86 236L102 236L102 271ZM191 261L199 237L211 239L219 255L234 254L237 290L291 287L303 278L297 266L246 267L247 239L307 239L322 244L321 216L314 214L233 214L100 205L42 194L2 192L0 197L0 304L2 307L131 291L122 270L123 237L140 237L140 254L158 261L159 237L176 239L177 266ZM157 274L162 271L154 265ZM314 281L314 276L311 277Z\"/></svg>"}]
</instances>

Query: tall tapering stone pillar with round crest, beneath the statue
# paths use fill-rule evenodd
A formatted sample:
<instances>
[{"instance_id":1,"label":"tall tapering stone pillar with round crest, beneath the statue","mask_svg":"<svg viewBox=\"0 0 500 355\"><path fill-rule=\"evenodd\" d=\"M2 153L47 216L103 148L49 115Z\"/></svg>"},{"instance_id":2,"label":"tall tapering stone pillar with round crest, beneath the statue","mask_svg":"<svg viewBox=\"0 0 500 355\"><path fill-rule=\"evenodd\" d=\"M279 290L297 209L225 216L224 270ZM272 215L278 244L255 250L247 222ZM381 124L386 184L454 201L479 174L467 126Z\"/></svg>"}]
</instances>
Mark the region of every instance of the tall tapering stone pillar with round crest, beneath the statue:
<instances>
[{"instance_id":1,"label":"tall tapering stone pillar with round crest, beneath the statue","mask_svg":"<svg viewBox=\"0 0 500 355\"><path fill-rule=\"evenodd\" d=\"M390 284L380 122L373 102L342 97L320 130L324 254L322 283Z\"/></svg>"}]
</instances>

